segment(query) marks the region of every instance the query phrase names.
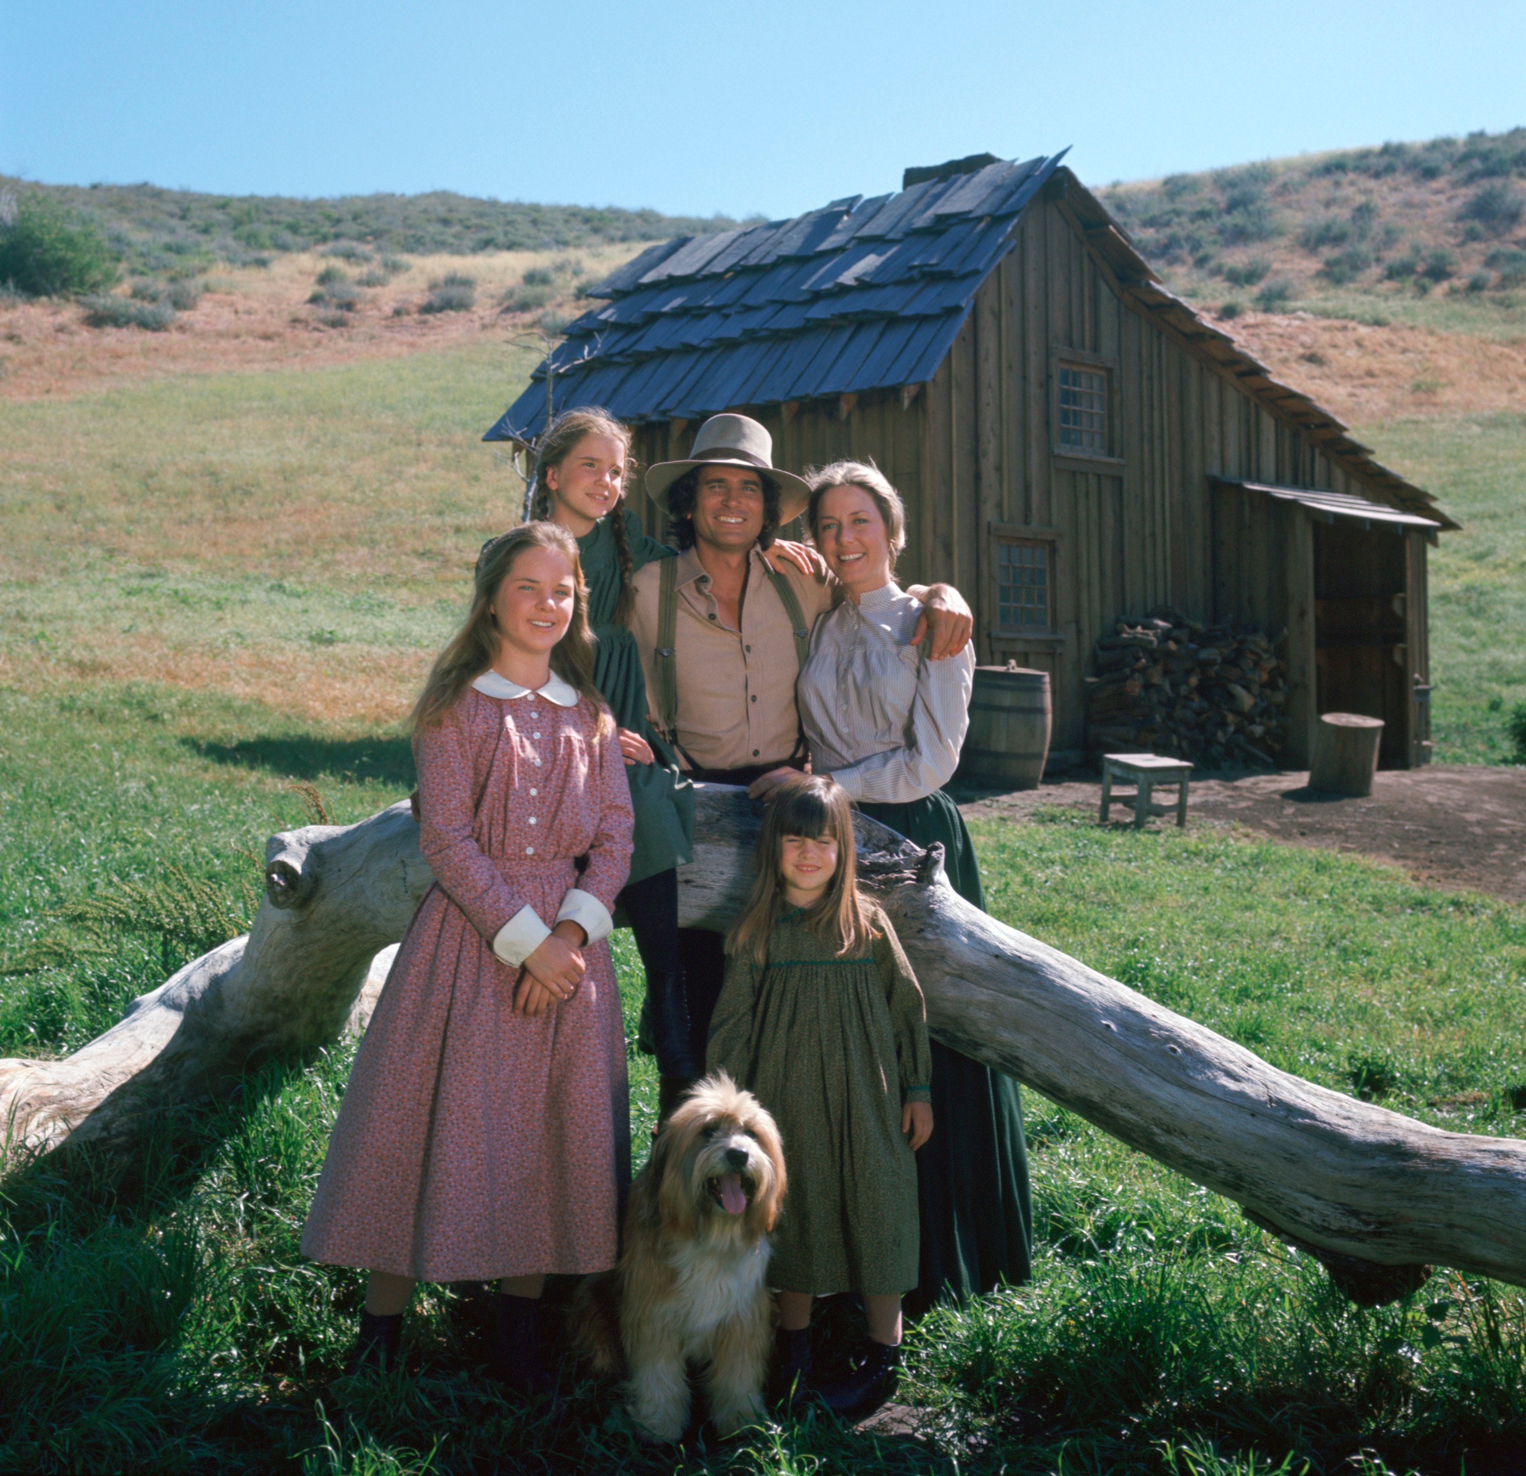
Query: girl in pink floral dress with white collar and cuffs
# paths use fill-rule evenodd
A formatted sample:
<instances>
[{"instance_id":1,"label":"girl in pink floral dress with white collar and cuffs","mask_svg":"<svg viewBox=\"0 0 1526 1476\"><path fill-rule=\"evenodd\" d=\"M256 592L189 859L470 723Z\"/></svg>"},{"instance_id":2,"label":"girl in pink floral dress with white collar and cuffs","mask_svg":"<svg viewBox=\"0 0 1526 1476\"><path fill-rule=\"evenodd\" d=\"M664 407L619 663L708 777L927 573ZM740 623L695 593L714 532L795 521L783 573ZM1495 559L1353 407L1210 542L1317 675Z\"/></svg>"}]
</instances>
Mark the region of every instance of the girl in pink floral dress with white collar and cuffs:
<instances>
[{"instance_id":1,"label":"girl in pink floral dress with white collar and cuffs","mask_svg":"<svg viewBox=\"0 0 1526 1476\"><path fill-rule=\"evenodd\" d=\"M545 1276L615 1264L630 1140L604 939L632 820L592 670L572 537L537 522L490 543L414 708L436 881L360 1043L302 1235L313 1259L371 1271L356 1366L395 1363L417 1281L497 1281L494 1369L546 1392Z\"/></svg>"}]
</instances>

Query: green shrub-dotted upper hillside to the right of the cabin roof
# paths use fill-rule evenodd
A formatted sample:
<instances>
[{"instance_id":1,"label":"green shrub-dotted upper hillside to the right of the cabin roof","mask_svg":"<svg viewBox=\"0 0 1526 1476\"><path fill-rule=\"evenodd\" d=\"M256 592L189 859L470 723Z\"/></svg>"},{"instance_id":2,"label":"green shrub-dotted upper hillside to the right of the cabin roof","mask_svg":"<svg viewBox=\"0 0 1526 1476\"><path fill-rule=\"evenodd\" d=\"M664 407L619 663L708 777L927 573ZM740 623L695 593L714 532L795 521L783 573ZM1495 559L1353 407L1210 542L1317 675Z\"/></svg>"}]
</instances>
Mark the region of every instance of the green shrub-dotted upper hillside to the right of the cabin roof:
<instances>
[{"instance_id":1,"label":"green shrub-dotted upper hillside to the right of the cabin roof","mask_svg":"<svg viewBox=\"0 0 1526 1476\"><path fill-rule=\"evenodd\" d=\"M1526 330L1526 128L1109 185L1103 203L1186 296Z\"/></svg>"}]
</instances>

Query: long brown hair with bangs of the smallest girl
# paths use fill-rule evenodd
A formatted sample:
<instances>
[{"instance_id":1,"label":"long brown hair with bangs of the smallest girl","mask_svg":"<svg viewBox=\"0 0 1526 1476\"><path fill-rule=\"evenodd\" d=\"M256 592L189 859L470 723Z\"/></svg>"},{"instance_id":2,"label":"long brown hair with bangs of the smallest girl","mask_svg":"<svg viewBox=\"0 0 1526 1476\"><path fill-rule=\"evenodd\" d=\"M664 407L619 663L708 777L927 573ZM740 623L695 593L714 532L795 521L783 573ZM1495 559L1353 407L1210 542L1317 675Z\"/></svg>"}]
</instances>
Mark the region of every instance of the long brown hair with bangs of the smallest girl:
<instances>
[{"instance_id":1,"label":"long brown hair with bangs of the smallest girl","mask_svg":"<svg viewBox=\"0 0 1526 1476\"><path fill-rule=\"evenodd\" d=\"M749 957L754 963L768 962L768 936L784 905L780 858L786 835L810 840L830 835L838 843L838 870L804 922L827 940L839 959L861 952L879 931L870 922L873 904L858 890L853 806L847 791L830 774L786 778L769 795L757 844L757 876L742 916L726 934L726 952Z\"/></svg>"}]
</instances>

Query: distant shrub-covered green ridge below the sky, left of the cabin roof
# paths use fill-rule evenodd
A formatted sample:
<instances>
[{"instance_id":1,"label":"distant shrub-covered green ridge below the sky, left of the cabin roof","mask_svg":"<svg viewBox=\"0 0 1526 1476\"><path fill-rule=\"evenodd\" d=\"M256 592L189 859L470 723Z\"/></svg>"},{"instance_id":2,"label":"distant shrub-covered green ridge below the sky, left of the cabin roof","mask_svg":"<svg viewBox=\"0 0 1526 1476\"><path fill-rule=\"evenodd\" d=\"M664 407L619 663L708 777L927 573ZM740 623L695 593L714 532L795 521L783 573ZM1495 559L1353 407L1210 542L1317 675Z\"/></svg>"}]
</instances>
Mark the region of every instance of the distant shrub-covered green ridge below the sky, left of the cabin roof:
<instances>
[{"instance_id":1,"label":"distant shrub-covered green ridge below the sky, left of the cabin roof","mask_svg":"<svg viewBox=\"0 0 1526 1476\"><path fill-rule=\"evenodd\" d=\"M0 176L0 191L37 191L95 221L130 272L252 266L281 252L475 255L664 241L736 221L617 206L525 205L449 191L424 195L215 195L157 185L35 185Z\"/></svg>"}]
</instances>

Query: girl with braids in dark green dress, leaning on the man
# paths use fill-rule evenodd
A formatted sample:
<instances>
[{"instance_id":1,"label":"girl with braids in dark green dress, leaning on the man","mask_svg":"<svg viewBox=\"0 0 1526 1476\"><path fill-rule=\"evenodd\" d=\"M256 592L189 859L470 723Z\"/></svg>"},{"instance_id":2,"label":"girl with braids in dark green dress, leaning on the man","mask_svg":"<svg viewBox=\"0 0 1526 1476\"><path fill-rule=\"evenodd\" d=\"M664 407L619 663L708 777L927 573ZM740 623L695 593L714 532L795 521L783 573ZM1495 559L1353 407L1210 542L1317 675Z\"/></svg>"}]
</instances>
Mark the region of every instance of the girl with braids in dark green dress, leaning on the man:
<instances>
[{"instance_id":1,"label":"girl with braids in dark green dress, leaning on the man","mask_svg":"<svg viewBox=\"0 0 1526 1476\"><path fill-rule=\"evenodd\" d=\"M678 867L694 843L694 789L678 757L647 719L647 687L636 643L624 626L630 577L673 549L647 537L626 508L630 432L606 411L563 411L546 429L536 458L530 513L560 524L575 539L588 582L588 618L598 641L594 685L620 731L636 818L630 879L617 905L630 922L647 974L641 1047L658 1058L664 1079L700 1075L690 1039L684 963L678 933Z\"/></svg>"}]
</instances>

